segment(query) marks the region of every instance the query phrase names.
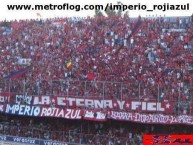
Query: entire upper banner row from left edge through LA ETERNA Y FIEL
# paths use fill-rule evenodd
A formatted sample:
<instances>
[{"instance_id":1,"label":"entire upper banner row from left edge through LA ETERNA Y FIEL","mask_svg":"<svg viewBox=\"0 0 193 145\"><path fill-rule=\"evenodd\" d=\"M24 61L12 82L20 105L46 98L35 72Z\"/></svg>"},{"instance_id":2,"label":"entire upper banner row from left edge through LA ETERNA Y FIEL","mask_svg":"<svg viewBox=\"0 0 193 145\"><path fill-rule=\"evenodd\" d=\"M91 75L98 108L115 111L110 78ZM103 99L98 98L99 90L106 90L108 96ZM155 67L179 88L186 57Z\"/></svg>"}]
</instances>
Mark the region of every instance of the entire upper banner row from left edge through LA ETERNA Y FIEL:
<instances>
[{"instance_id":1,"label":"entire upper banner row from left edge through LA ETERNA Y FIEL","mask_svg":"<svg viewBox=\"0 0 193 145\"><path fill-rule=\"evenodd\" d=\"M177 109L176 102L156 102L153 100L119 100L119 99L97 99L97 98L75 98L75 97L58 97L58 96L25 96L13 94L0 94L0 103L26 104L40 107L55 106L57 108L94 108L96 110L120 110L120 111L137 111L144 113L174 113ZM190 111L190 103L182 104L186 110ZM193 104L192 104L193 105ZM186 107L187 106L187 107ZM178 107L179 108L179 107Z\"/></svg>"}]
</instances>

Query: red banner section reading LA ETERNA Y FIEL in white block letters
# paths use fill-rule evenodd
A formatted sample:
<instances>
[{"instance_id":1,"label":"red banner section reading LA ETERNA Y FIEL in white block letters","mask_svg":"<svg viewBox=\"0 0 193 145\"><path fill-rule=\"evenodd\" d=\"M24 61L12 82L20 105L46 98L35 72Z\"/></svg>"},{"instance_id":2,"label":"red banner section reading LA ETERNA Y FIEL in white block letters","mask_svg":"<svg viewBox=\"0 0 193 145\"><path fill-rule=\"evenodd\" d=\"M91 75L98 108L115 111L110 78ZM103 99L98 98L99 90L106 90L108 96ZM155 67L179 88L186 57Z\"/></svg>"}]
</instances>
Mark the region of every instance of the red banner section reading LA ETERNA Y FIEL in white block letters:
<instances>
[{"instance_id":1,"label":"red banner section reading LA ETERNA Y FIEL in white block letters","mask_svg":"<svg viewBox=\"0 0 193 145\"><path fill-rule=\"evenodd\" d=\"M30 98L25 97L26 100ZM143 112L173 112L174 103L144 100L118 100L93 98L66 98L56 96L37 96L31 98L33 105L51 105L67 107L89 107L95 109L117 109Z\"/></svg>"}]
</instances>

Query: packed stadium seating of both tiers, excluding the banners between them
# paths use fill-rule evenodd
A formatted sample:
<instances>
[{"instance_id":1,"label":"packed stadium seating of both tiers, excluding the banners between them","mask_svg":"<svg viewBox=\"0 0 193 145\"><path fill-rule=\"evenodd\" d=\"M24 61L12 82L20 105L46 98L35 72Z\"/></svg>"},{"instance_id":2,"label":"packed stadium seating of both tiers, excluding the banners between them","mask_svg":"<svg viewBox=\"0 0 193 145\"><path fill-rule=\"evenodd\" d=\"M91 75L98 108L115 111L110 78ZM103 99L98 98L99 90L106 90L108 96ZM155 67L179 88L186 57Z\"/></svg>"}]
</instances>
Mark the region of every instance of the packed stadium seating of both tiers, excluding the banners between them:
<instances>
[{"instance_id":1,"label":"packed stadium seating of both tiers, excluding the banners between them","mask_svg":"<svg viewBox=\"0 0 193 145\"><path fill-rule=\"evenodd\" d=\"M177 101L183 110L192 101L193 23L180 19L0 22L0 92ZM189 126L0 118L0 134L89 145L140 145L143 133L192 133Z\"/></svg>"}]
</instances>

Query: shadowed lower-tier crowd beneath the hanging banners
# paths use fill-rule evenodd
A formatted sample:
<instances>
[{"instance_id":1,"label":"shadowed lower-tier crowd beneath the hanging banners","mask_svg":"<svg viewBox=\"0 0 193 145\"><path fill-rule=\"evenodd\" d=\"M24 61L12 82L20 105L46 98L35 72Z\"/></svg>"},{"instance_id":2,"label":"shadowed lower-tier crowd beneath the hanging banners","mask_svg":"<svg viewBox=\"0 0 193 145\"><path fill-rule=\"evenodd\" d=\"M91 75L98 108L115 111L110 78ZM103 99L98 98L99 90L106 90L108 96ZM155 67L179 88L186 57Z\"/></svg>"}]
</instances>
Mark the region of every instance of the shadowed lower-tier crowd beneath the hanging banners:
<instances>
[{"instance_id":1,"label":"shadowed lower-tier crowd beneath the hanging banners","mask_svg":"<svg viewBox=\"0 0 193 145\"><path fill-rule=\"evenodd\" d=\"M62 141L68 145L141 145L143 134L192 134L192 126L90 122L1 114L0 134Z\"/></svg>"}]
</instances>

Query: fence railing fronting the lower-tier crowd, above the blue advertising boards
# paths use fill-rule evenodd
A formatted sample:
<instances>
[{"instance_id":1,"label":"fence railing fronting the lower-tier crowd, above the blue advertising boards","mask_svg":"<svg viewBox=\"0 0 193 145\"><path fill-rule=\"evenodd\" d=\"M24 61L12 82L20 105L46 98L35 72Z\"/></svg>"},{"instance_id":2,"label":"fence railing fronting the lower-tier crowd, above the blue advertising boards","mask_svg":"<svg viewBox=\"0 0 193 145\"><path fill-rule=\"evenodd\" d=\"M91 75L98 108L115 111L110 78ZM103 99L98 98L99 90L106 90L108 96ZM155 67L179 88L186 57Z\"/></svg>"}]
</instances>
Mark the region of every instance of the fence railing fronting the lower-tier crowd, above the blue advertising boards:
<instances>
[{"instance_id":1,"label":"fence railing fronting the lower-tier crowd, above the blue advertising boards","mask_svg":"<svg viewBox=\"0 0 193 145\"><path fill-rule=\"evenodd\" d=\"M129 137L114 136L104 133L80 133L76 130L50 131L46 129L21 127L6 123L0 123L0 135L25 137L35 140L57 141L70 145L89 145L93 143L96 145L108 143L126 145L140 142L140 140L135 137L133 139L129 139Z\"/></svg>"}]
</instances>

